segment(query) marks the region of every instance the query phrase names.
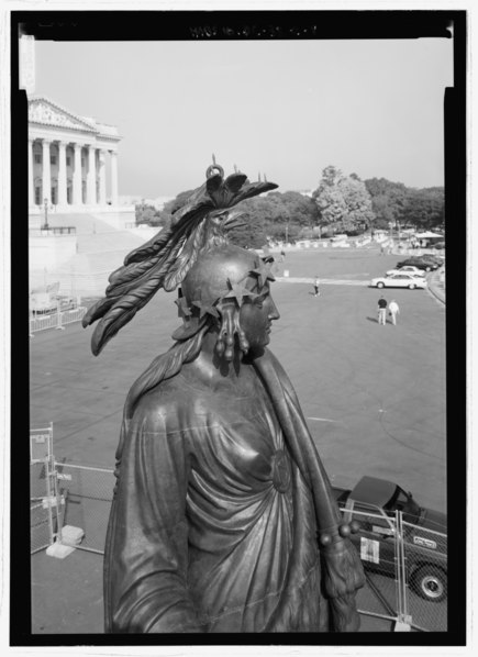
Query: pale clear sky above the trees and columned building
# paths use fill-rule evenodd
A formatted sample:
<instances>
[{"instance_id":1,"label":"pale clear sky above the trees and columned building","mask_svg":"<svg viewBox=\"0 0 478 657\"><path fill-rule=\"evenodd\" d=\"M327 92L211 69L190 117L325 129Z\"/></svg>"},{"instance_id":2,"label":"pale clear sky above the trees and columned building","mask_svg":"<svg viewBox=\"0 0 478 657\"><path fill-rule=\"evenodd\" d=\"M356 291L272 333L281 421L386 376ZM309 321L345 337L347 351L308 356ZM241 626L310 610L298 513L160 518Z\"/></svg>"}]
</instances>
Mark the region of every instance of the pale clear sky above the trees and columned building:
<instances>
[{"instance_id":1,"label":"pale clear sky above the trees and columned building","mask_svg":"<svg viewBox=\"0 0 478 657\"><path fill-rule=\"evenodd\" d=\"M36 42L35 94L118 126L120 196L175 197L212 154L278 191L333 165L444 185L452 40Z\"/></svg>"}]
</instances>

